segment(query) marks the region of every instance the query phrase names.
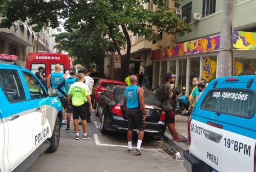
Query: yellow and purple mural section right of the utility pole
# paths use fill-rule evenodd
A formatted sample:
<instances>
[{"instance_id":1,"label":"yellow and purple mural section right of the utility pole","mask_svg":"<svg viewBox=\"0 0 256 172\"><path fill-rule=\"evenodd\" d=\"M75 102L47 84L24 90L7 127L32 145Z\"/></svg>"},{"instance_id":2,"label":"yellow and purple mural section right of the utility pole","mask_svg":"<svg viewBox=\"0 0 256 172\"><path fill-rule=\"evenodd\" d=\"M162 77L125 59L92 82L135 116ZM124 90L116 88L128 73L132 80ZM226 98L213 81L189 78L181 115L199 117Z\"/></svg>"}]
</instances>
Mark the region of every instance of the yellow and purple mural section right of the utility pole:
<instances>
[{"instance_id":1,"label":"yellow and purple mural section right of the utility pole","mask_svg":"<svg viewBox=\"0 0 256 172\"><path fill-rule=\"evenodd\" d=\"M256 50L256 33L234 31L233 48L237 50Z\"/></svg>"}]
</instances>

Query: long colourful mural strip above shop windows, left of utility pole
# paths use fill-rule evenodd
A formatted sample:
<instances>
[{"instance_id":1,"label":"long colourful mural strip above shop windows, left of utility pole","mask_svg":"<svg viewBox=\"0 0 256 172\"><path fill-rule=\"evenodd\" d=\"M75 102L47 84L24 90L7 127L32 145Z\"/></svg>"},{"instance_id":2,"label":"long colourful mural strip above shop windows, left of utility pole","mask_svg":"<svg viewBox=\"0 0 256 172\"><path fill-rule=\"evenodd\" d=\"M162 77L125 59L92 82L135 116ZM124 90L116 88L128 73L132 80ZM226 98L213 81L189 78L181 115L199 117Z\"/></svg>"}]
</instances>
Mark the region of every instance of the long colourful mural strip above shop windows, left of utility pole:
<instances>
[{"instance_id":1,"label":"long colourful mural strip above shop windows, left of utility pole","mask_svg":"<svg viewBox=\"0 0 256 172\"><path fill-rule=\"evenodd\" d=\"M206 53L220 48L220 36L205 37L152 51L152 59Z\"/></svg>"}]
</instances>

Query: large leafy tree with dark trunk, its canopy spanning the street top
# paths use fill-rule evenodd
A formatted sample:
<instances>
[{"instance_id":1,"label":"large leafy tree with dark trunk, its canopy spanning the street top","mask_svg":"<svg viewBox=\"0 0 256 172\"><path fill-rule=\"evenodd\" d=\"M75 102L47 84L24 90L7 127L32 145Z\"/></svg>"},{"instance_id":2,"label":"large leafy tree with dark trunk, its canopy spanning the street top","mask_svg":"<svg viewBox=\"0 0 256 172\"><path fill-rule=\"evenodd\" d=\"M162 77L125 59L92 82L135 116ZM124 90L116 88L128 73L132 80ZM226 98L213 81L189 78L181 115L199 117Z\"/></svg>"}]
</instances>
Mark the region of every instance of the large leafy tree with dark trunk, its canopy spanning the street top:
<instances>
[{"instance_id":1,"label":"large leafy tree with dark trunk, its canopy spanning the street top","mask_svg":"<svg viewBox=\"0 0 256 172\"><path fill-rule=\"evenodd\" d=\"M179 5L179 0L173 1L176 6ZM10 27L15 20L25 20L26 17L30 19L30 23L36 30L43 26L56 27L58 25L57 16L61 16L68 18L65 22L65 28L69 32L74 29L79 29L81 32L93 32L95 28L100 30L103 36L112 39L113 46L119 55L121 55L120 47L126 44L126 55L122 56L123 77L127 75L127 63L131 55L131 40L128 31L134 35L144 36L150 41L157 41L158 33L161 31L180 35L190 31L187 24L183 23L172 11L169 11L168 0L152 0L160 9L159 12L144 9L144 5L150 0L62 0L48 2L43 0L4 0L4 2L7 9L3 10L2 6L0 9L0 12L6 17L2 20L2 27ZM34 7L36 8L34 9ZM86 23L87 29L83 27L84 23ZM147 24L156 26L157 30L147 30Z\"/></svg>"}]
</instances>

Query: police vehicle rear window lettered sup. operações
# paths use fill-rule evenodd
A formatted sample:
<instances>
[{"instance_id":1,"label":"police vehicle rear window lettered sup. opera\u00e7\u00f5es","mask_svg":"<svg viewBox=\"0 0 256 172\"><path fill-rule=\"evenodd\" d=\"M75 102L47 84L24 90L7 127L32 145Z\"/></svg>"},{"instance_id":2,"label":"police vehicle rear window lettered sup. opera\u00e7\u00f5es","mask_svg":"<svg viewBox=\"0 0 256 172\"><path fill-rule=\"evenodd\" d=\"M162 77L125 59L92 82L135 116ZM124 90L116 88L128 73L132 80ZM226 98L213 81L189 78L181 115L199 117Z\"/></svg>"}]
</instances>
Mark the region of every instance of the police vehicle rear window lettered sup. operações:
<instances>
[{"instance_id":1,"label":"police vehicle rear window lettered sup. opera\u00e7\u00f5es","mask_svg":"<svg viewBox=\"0 0 256 172\"><path fill-rule=\"evenodd\" d=\"M201 109L251 118L255 112L255 94L245 90L212 90L205 96Z\"/></svg>"}]
</instances>

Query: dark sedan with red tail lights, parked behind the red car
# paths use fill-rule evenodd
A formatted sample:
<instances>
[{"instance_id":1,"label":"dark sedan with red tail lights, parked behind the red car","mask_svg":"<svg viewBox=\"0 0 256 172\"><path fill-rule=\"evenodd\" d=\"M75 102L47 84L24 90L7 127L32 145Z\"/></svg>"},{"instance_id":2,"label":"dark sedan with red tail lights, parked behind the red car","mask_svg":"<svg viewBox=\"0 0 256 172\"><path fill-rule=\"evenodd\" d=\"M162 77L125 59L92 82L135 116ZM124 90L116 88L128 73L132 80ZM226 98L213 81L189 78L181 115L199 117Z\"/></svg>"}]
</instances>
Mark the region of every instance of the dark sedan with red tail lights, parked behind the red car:
<instances>
[{"instance_id":1,"label":"dark sedan with red tail lights, parked behind the red car","mask_svg":"<svg viewBox=\"0 0 256 172\"><path fill-rule=\"evenodd\" d=\"M99 97L96 105L96 113L101 120L100 131L127 132L127 118L123 110L123 94L126 86L111 85ZM101 94L101 93L100 93ZM146 109L145 135L162 136L165 132L165 113L160 107L160 102L147 90L144 90L144 101ZM135 132L137 130L134 130Z\"/></svg>"}]
</instances>

